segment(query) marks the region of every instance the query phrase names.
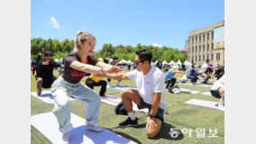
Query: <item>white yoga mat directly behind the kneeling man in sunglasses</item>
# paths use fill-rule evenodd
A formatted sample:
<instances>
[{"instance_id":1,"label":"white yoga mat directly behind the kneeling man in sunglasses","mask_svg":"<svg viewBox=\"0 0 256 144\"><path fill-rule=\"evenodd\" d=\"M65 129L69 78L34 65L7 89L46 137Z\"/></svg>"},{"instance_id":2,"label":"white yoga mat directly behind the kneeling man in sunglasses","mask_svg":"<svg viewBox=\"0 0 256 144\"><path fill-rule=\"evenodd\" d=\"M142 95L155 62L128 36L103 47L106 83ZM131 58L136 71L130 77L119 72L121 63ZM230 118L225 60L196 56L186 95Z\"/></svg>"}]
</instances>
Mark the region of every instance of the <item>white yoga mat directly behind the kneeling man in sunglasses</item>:
<instances>
[{"instance_id":1,"label":"white yoga mat directly behind the kneeling man in sunglasses","mask_svg":"<svg viewBox=\"0 0 256 144\"><path fill-rule=\"evenodd\" d=\"M101 102L112 104L112 105L117 105L121 101L122 101L121 98L115 97L115 96L112 96L112 95L105 95L105 96L101 97ZM136 103L133 103L133 111L149 112L148 109L141 109L141 110L139 110Z\"/></svg>"}]
</instances>

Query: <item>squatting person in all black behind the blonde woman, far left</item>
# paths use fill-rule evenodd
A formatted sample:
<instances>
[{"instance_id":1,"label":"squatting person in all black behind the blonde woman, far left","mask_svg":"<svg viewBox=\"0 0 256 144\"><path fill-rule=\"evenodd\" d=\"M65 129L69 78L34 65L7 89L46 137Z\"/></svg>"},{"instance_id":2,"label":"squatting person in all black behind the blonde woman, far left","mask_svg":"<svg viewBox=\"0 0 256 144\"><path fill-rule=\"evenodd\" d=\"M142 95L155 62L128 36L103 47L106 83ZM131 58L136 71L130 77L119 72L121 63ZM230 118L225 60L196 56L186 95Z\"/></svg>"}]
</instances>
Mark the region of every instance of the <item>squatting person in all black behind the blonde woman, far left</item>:
<instances>
[{"instance_id":1,"label":"squatting person in all black behind the blonde woman, far left","mask_svg":"<svg viewBox=\"0 0 256 144\"><path fill-rule=\"evenodd\" d=\"M51 52L45 51L44 58L41 58L38 64L38 71L36 73L35 79L37 81L37 95L41 95L42 88L50 88L52 83L56 80L53 76L53 69L55 67L63 67L51 58Z\"/></svg>"}]
</instances>

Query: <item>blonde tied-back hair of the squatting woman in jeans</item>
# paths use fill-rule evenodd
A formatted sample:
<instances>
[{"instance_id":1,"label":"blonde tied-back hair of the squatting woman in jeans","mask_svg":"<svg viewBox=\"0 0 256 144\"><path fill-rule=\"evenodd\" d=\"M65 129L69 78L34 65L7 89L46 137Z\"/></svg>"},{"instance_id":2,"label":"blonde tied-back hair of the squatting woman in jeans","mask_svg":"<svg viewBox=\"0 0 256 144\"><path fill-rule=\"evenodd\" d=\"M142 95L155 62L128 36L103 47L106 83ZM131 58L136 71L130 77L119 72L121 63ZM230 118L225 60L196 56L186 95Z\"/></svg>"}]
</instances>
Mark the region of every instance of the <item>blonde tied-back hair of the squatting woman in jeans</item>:
<instances>
[{"instance_id":1,"label":"blonde tied-back hair of the squatting woman in jeans","mask_svg":"<svg viewBox=\"0 0 256 144\"><path fill-rule=\"evenodd\" d=\"M79 42L85 42L88 40L88 38L93 38L94 40L96 40L95 36L93 36L91 33L86 32L86 31L78 31L77 37L74 40L74 49L73 51L78 51L78 49L81 49L79 46Z\"/></svg>"}]
</instances>

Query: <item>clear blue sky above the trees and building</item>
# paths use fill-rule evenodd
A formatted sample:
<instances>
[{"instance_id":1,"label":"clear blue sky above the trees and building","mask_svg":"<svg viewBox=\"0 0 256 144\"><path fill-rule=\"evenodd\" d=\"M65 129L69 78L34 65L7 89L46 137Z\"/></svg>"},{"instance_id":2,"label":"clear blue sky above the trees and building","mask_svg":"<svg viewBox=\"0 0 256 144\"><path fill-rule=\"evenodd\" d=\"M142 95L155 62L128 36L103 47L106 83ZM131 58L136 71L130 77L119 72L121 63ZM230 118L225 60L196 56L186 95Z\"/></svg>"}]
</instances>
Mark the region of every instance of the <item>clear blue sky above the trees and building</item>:
<instances>
[{"instance_id":1,"label":"clear blue sky above the trees and building","mask_svg":"<svg viewBox=\"0 0 256 144\"><path fill-rule=\"evenodd\" d=\"M32 0L31 37L74 39L88 31L104 43L158 43L184 49L189 31L224 20L224 0Z\"/></svg>"}]
</instances>

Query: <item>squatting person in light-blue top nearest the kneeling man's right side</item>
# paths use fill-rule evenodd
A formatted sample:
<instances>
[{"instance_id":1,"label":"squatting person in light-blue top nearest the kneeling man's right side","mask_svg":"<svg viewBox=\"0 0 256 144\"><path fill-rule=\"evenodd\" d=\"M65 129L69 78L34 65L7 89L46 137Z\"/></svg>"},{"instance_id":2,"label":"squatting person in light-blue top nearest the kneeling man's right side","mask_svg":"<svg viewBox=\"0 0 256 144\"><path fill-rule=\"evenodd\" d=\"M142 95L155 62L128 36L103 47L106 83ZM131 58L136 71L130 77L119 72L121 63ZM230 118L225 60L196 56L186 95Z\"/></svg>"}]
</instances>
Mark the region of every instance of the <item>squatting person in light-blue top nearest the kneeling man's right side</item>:
<instances>
[{"instance_id":1,"label":"squatting person in light-blue top nearest the kneeling man's right side","mask_svg":"<svg viewBox=\"0 0 256 144\"><path fill-rule=\"evenodd\" d=\"M165 79L165 83L167 84L166 85L166 89L169 89L170 87L174 86L177 79L174 78L175 74L176 73L184 73L183 71L179 71L178 70L178 67L175 67L175 68L164 68L163 70L164 72L164 79Z\"/></svg>"}]
</instances>

